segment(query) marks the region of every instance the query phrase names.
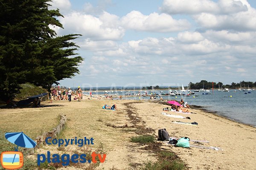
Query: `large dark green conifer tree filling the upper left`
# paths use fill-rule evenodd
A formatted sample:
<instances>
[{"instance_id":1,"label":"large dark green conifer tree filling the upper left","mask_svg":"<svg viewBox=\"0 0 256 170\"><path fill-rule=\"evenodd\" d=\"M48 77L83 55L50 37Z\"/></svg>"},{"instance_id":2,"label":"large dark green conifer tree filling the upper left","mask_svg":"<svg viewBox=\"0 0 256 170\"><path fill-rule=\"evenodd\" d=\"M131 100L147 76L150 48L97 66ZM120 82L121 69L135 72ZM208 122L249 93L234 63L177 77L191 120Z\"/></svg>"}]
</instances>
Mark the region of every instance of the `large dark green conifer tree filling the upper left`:
<instances>
[{"instance_id":1,"label":"large dark green conifer tree filling the upper left","mask_svg":"<svg viewBox=\"0 0 256 170\"><path fill-rule=\"evenodd\" d=\"M49 0L0 0L0 95L19 92L31 82L49 89L53 83L79 73L83 61L70 41L79 34L58 37L49 26L62 28L58 9L49 10Z\"/></svg>"}]
</instances>

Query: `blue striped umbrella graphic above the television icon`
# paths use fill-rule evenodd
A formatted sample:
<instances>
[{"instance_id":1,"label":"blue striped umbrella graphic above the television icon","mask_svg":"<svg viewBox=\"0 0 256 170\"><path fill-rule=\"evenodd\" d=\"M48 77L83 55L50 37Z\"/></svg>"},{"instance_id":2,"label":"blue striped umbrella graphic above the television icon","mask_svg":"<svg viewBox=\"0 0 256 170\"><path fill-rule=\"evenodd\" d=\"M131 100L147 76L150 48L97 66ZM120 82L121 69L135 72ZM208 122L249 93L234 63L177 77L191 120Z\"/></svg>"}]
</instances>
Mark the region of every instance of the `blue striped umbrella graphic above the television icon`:
<instances>
[{"instance_id":1,"label":"blue striped umbrella graphic above the television icon","mask_svg":"<svg viewBox=\"0 0 256 170\"><path fill-rule=\"evenodd\" d=\"M33 148L36 145L36 142L30 139L29 136L26 136L23 132L6 133L4 136L9 142L17 144L18 147ZM15 148L15 151L17 151L18 147Z\"/></svg>"}]
</instances>

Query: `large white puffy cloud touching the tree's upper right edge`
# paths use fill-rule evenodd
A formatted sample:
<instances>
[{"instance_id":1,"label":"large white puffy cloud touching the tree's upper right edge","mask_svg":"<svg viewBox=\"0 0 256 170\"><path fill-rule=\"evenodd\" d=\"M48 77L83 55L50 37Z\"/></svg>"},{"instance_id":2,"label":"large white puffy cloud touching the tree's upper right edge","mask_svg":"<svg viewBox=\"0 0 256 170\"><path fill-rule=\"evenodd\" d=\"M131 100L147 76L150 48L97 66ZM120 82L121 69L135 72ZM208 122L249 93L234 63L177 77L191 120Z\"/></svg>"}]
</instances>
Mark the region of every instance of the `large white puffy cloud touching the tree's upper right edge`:
<instances>
[{"instance_id":1,"label":"large white puffy cloud touching the tree's upper right edge","mask_svg":"<svg viewBox=\"0 0 256 170\"><path fill-rule=\"evenodd\" d=\"M118 18L107 12L94 17L73 11L60 19L65 29L57 30L57 32L67 34L68 31L68 34L82 34L85 38L93 40L120 40L125 30L118 25Z\"/></svg>"}]
</instances>

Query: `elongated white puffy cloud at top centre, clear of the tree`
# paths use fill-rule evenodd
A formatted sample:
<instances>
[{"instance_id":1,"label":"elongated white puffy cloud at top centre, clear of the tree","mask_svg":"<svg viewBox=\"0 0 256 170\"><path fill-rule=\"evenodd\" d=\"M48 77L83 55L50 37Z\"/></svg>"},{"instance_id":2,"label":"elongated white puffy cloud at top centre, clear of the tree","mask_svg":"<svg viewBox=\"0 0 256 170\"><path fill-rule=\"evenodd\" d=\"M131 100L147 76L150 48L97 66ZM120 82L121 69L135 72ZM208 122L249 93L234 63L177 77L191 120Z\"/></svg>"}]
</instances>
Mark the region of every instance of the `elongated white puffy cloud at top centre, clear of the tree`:
<instances>
[{"instance_id":1,"label":"elongated white puffy cloud at top centre, clear of the tree","mask_svg":"<svg viewBox=\"0 0 256 170\"><path fill-rule=\"evenodd\" d=\"M175 20L168 14L151 13L143 15L140 11L131 11L121 19L126 29L153 32L182 31L190 27L188 20Z\"/></svg>"}]
</instances>

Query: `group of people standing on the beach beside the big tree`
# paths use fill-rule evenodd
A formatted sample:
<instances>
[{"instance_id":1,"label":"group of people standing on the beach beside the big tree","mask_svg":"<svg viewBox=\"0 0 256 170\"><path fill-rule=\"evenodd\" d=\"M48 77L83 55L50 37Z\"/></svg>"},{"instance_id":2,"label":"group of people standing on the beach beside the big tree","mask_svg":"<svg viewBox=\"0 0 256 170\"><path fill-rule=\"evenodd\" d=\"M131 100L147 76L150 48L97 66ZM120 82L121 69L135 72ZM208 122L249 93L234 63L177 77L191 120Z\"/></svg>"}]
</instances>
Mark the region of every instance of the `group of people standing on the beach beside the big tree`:
<instances>
[{"instance_id":1,"label":"group of people standing on the beach beside the big tree","mask_svg":"<svg viewBox=\"0 0 256 170\"><path fill-rule=\"evenodd\" d=\"M81 102L82 99L82 90L80 88L80 86L78 86L78 89L76 90L76 94L77 97L75 97L74 99L78 99L78 102ZM52 103L53 100L68 100L69 102L71 102L71 96L73 95L73 91L71 90L71 88L65 89L61 89L60 86L58 86L58 88L53 88L51 90L51 92L49 93L49 100L50 103Z\"/></svg>"}]
</instances>

